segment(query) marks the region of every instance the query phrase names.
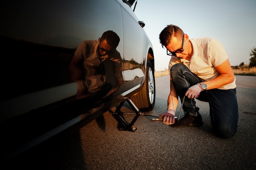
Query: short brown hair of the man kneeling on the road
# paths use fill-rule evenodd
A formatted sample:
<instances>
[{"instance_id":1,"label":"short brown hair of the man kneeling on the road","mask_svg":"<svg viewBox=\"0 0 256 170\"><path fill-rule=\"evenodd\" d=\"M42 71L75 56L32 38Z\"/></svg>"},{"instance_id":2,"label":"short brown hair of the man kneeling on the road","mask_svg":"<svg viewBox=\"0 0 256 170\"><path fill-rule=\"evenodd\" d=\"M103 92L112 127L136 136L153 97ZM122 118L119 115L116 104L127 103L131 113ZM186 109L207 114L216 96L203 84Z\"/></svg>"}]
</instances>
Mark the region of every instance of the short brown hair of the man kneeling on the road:
<instances>
[{"instance_id":1,"label":"short brown hair of the man kneeling on the road","mask_svg":"<svg viewBox=\"0 0 256 170\"><path fill-rule=\"evenodd\" d=\"M167 25L159 34L159 40L162 44L162 47L166 47L173 37L180 38L183 36L183 31L180 29L180 27L176 25Z\"/></svg>"}]
</instances>

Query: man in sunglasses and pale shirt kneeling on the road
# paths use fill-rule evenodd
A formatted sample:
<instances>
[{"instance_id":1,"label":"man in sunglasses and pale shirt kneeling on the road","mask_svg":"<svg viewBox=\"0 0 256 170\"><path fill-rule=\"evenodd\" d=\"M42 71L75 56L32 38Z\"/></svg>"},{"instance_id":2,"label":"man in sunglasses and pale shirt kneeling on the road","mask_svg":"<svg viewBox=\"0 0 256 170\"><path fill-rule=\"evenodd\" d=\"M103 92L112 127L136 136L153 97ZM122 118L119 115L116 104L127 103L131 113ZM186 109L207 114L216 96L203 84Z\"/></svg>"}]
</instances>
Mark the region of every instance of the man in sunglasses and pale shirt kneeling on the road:
<instances>
[{"instance_id":1,"label":"man in sunglasses and pale shirt kneeling on the road","mask_svg":"<svg viewBox=\"0 0 256 170\"><path fill-rule=\"evenodd\" d=\"M170 87L167 112L159 116L173 128L202 126L195 98L209 102L213 133L232 137L237 130L236 79L222 44L213 38L189 39L182 29L167 25L159 34L169 62ZM175 121L178 96L184 117Z\"/></svg>"}]
</instances>

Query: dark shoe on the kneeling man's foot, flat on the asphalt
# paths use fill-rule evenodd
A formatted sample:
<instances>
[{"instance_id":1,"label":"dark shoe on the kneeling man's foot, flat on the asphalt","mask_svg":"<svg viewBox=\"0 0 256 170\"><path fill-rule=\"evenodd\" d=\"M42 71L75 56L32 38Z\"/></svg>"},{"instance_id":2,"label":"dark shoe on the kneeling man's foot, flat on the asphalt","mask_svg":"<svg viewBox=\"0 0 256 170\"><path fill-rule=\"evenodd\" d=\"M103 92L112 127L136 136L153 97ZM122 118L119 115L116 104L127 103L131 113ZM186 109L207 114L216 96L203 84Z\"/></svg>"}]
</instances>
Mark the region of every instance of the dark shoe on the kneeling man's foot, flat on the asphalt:
<instances>
[{"instance_id":1,"label":"dark shoe on the kneeling man's foot, flat on the asphalt","mask_svg":"<svg viewBox=\"0 0 256 170\"><path fill-rule=\"evenodd\" d=\"M186 128L186 127L200 127L204 123L202 121L201 115L199 116L191 116L189 114L185 114L184 117L180 119L180 121L175 120L175 124L171 126L173 128Z\"/></svg>"}]
</instances>

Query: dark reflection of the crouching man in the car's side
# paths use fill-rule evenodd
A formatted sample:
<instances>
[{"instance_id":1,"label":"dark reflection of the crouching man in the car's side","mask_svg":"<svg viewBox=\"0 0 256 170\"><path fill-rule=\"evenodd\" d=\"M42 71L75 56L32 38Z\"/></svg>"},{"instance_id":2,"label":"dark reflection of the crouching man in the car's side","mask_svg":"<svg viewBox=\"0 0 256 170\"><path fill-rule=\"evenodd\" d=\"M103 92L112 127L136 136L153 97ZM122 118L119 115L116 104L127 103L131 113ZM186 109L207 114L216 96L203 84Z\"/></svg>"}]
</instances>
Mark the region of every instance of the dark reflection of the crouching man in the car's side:
<instances>
[{"instance_id":1,"label":"dark reflection of the crouching man in the car's side","mask_svg":"<svg viewBox=\"0 0 256 170\"><path fill-rule=\"evenodd\" d=\"M70 63L77 99L94 94L107 97L124 84L121 56L116 49L119 41L114 31L106 31L98 40L85 40L77 47Z\"/></svg>"}]
</instances>

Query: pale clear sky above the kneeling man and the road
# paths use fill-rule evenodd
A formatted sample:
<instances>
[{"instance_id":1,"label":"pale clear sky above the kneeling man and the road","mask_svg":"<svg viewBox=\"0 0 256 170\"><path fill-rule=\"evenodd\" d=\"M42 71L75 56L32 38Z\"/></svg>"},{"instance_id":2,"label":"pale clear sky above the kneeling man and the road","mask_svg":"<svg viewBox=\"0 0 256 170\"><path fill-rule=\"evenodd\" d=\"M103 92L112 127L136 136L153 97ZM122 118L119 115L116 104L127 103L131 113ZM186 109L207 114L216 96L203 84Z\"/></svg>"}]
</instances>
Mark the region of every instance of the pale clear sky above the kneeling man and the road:
<instances>
[{"instance_id":1,"label":"pale clear sky above the kneeling man and the road","mask_svg":"<svg viewBox=\"0 0 256 170\"><path fill-rule=\"evenodd\" d=\"M137 0L135 14L146 24L156 71L167 69L170 61L159 43L159 33L168 24L179 26L189 38L220 41L231 66L249 64L256 46L256 0Z\"/></svg>"}]
</instances>

